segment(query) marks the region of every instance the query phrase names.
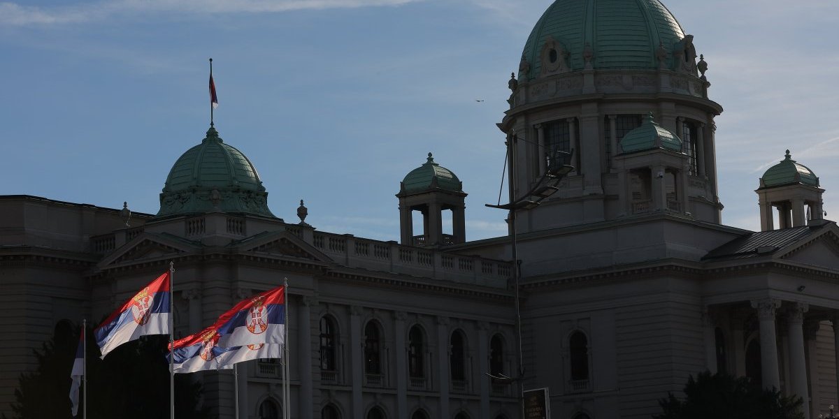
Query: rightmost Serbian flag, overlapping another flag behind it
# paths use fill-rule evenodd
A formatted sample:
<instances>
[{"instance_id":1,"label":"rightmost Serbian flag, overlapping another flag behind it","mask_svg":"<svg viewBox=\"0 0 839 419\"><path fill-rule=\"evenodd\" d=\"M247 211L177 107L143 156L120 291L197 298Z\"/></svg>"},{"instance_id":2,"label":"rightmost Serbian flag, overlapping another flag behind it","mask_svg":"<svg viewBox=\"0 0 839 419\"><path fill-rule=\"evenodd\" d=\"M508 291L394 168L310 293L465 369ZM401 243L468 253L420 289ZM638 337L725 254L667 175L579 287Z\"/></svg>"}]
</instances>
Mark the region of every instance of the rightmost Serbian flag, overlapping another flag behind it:
<instances>
[{"instance_id":1,"label":"rightmost Serbian flag, overlapping another flag behind it","mask_svg":"<svg viewBox=\"0 0 839 419\"><path fill-rule=\"evenodd\" d=\"M285 286L245 298L221 314L214 326L224 348L284 343Z\"/></svg>"}]
</instances>

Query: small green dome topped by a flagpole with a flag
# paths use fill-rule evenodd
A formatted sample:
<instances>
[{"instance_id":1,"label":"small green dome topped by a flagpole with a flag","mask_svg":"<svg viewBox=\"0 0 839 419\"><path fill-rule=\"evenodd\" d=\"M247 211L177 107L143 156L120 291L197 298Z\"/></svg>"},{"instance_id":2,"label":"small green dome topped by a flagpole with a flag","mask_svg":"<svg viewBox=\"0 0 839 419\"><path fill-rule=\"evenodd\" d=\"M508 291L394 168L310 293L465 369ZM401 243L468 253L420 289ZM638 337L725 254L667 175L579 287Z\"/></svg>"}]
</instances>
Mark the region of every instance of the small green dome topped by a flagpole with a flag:
<instances>
[{"instance_id":1,"label":"small green dome topped by a flagpole with a flag","mask_svg":"<svg viewBox=\"0 0 839 419\"><path fill-rule=\"evenodd\" d=\"M242 152L222 142L214 127L172 166L157 216L211 211L274 217L257 169Z\"/></svg>"}]
</instances>

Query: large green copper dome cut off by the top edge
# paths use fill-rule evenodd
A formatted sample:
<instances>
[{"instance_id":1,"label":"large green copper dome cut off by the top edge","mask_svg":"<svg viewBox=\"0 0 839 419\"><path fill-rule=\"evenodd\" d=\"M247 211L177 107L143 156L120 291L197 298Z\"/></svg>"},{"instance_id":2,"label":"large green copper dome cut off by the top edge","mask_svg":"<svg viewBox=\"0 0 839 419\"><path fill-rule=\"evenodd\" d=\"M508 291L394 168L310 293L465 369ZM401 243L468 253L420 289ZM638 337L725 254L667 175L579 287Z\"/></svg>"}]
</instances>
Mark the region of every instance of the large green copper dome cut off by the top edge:
<instances>
[{"instance_id":1,"label":"large green copper dome cut off by the top edge","mask_svg":"<svg viewBox=\"0 0 839 419\"><path fill-rule=\"evenodd\" d=\"M600 70L654 70L659 56L672 68L674 57L685 49L683 39L685 31L659 0L556 0L524 45L519 80L544 72L546 44L555 43L550 59L560 54L570 71L586 68L586 57Z\"/></svg>"}]
</instances>

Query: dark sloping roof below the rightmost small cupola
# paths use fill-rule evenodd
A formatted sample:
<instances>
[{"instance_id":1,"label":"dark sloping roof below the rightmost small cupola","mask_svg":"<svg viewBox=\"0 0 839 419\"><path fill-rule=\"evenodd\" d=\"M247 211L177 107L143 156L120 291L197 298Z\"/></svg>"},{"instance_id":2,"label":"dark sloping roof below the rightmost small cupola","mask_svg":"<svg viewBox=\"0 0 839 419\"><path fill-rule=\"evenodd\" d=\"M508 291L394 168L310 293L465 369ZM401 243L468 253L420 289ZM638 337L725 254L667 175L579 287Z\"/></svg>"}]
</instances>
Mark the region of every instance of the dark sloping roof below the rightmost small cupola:
<instances>
[{"instance_id":1,"label":"dark sloping roof below the rightmost small cupola","mask_svg":"<svg viewBox=\"0 0 839 419\"><path fill-rule=\"evenodd\" d=\"M709 251L702 260L741 259L773 253L796 241L804 240L816 234L822 226L812 225L781 230L756 231L737 237L737 239Z\"/></svg>"}]
</instances>

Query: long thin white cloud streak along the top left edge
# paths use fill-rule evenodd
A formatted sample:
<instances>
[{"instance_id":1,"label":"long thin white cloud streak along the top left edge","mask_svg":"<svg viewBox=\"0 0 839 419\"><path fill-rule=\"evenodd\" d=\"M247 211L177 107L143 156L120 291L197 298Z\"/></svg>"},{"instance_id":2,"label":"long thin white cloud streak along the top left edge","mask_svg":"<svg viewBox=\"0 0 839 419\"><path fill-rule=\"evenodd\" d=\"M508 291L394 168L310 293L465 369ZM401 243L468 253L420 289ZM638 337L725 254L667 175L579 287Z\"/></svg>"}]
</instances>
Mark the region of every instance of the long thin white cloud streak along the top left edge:
<instances>
[{"instance_id":1,"label":"long thin white cloud streak along the top left edge","mask_svg":"<svg viewBox=\"0 0 839 419\"><path fill-rule=\"evenodd\" d=\"M0 3L0 25L87 23L138 13L281 13L304 9L399 6L421 0L120 0L37 7Z\"/></svg>"}]
</instances>

